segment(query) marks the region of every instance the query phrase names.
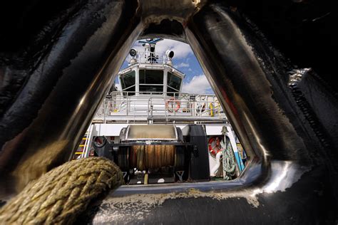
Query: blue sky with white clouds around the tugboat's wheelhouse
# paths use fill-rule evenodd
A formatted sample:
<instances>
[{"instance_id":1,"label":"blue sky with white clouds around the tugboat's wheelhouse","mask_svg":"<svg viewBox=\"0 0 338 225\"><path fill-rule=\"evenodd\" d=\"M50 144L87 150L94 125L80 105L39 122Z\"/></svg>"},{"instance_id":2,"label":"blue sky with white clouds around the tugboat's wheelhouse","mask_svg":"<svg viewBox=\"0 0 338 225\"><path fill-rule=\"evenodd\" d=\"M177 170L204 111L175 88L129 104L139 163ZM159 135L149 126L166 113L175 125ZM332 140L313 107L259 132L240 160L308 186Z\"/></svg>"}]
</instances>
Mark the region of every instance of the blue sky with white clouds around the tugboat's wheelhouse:
<instances>
[{"instance_id":1,"label":"blue sky with white clouds around the tugboat's wheelhouse","mask_svg":"<svg viewBox=\"0 0 338 225\"><path fill-rule=\"evenodd\" d=\"M138 41L134 43L132 48L135 48L137 51L144 51L144 47L138 43ZM175 53L175 56L173 57L173 66L185 73L183 92L213 94L210 84L200 67L200 63L198 63L193 50L187 43L170 39L164 39L157 43L156 52L165 53L167 50L174 51ZM126 68L129 60L130 58L128 55L121 68Z\"/></svg>"}]
</instances>

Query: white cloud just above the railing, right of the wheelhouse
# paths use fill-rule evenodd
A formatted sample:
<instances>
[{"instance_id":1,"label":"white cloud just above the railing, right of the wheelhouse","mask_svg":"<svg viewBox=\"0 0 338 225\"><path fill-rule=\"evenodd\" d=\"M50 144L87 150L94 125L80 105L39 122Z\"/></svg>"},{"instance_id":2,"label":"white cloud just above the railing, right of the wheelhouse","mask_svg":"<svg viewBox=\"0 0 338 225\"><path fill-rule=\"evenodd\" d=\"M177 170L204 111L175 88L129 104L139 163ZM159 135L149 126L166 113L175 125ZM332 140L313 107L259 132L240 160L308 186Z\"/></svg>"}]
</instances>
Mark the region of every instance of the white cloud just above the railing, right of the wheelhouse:
<instances>
[{"instance_id":1,"label":"white cloud just above the railing, right of the wheelhouse","mask_svg":"<svg viewBox=\"0 0 338 225\"><path fill-rule=\"evenodd\" d=\"M205 75L196 75L190 82L183 83L183 93L198 93L198 94L210 94L212 93L211 86L205 77Z\"/></svg>"}]
</instances>

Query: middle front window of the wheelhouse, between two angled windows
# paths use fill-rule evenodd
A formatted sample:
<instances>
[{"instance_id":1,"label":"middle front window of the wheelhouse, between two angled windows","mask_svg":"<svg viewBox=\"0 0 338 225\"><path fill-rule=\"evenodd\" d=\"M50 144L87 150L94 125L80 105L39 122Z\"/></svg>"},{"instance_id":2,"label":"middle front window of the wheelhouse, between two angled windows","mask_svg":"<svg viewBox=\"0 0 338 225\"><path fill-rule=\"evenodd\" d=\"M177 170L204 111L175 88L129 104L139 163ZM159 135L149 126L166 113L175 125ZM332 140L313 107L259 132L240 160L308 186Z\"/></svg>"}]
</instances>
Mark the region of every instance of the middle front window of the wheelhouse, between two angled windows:
<instances>
[{"instance_id":1,"label":"middle front window of the wheelhouse, between two angled windows","mask_svg":"<svg viewBox=\"0 0 338 225\"><path fill-rule=\"evenodd\" d=\"M163 70L139 70L140 93L163 94Z\"/></svg>"}]
</instances>

